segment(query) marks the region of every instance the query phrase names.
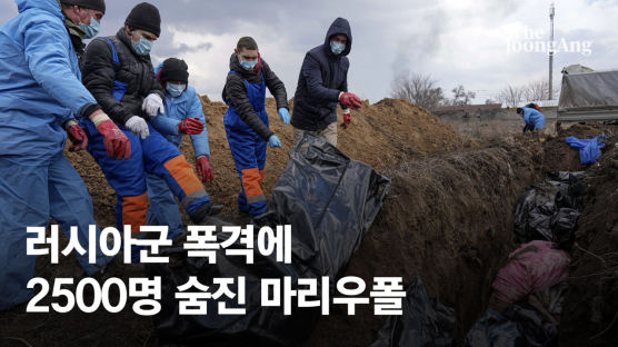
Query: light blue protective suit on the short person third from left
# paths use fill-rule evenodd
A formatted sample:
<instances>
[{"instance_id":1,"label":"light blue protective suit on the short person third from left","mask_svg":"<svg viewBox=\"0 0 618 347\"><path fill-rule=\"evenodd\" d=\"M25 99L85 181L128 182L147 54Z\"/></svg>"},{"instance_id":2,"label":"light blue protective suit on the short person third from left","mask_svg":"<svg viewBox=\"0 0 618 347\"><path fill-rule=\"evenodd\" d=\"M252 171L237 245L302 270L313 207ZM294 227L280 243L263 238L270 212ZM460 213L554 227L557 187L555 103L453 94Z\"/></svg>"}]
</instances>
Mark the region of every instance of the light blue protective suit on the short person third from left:
<instances>
[{"instance_id":1,"label":"light blue protective suit on the short person third from left","mask_svg":"<svg viewBox=\"0 0 618 347\"><path fill-rule=\"evenodd\" d=\"M159 65L154 72L158 73L160 69L161 65ZM190 135L189 137L193 143L196 158L201 156L210 158L206 119L201 102L193 87L188 86L187 90L178 98L172 98L166 92L166 113L151 117L150 123L168 141L180 148L182 133L178 132L178 125L186 118L199 118L205 123L201 133ZM146 181L150 206L147 214L147 222L150 226L169 226L169 237L175 239L183 231L178 202L163 179L148 174Z\"/></svg>"}]
</instances>

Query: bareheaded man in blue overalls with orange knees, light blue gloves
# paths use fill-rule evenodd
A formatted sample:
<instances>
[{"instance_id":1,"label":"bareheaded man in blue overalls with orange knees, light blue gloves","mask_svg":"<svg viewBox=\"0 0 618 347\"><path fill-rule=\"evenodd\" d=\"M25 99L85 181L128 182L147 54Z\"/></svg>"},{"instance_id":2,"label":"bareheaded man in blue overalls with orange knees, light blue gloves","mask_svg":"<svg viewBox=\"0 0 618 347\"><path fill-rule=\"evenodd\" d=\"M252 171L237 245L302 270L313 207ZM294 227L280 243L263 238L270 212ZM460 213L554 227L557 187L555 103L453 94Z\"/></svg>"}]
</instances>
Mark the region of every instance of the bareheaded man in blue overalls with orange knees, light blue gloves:
<instances>
[{"instance_id":1,"label":"bareheaded man in blue overalls with orange knees, light blue gloves","mask_svg":"<svg viewBox=\"0 0 618 347\"><path fill-rule=\"evenodd\" d=\"M266 147L281 147L279 138L269 129L266 112L266 89L275 100L281 121L290 121L283 82L261 59L258 43L250 37L238 41L230 57L230 72L223 88L223 100L229 106L223 118L230 150L240 177L238 208L251 215L255 224L267 224L267 204L261 189L265 177Z\"/></svg>"}]
</instances>

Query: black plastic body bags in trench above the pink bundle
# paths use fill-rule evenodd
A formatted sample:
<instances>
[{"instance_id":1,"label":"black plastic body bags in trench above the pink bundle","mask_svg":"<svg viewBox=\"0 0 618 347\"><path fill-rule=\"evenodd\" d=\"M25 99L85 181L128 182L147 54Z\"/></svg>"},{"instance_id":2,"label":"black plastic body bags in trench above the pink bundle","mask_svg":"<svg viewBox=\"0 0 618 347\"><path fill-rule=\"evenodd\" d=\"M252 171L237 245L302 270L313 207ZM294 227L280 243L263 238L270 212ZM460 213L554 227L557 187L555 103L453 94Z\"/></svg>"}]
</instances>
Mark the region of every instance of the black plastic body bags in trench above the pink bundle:
<instances>
[{"instance_id":1,"label":"black plastic body bags in trench above the pink bundle","mask_svg":"<svg viewBox=\"0 0 618 347\"><path fill-rule=\"evenodd\" d=\"M548 240L569 250L586 190L584 176L584 172L552 172L524 194L515 210L516 241Z\"/></svg>"}]
</instances>

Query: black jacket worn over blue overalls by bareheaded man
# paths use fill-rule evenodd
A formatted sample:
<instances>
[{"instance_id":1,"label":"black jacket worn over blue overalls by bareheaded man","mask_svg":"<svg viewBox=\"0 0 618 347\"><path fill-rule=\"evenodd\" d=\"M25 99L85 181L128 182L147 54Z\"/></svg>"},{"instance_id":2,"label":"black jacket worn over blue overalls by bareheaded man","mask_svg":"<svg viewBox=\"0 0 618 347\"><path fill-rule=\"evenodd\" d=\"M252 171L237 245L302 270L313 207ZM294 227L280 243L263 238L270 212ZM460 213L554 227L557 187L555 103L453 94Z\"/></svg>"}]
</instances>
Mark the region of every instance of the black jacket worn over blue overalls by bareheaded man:
<instances>
[{"instance_id":1,"label":"black jacket worn over blue overalls by bareheaded man","mask_svg":"<svg viewBox=\"0 0 618 347\"><path fill-rule=\"evenodd\" d=\"M238 57L232 53L230 57L230 70L238 73L228 73L226 86L223 87L222 98L226 103L236 108L240 119L249 126L257 135L268 141L273 135L272 131L260 120L249 97L247 96L247 86L245 80L249 83L261 83L262 75L265 78L266 87L277 101L277 109L288 108L288 93L283 82L270 70L266 60L261 59L260 68L257 72L249 72L240 66Z\"/></svg>"}]
</instances>

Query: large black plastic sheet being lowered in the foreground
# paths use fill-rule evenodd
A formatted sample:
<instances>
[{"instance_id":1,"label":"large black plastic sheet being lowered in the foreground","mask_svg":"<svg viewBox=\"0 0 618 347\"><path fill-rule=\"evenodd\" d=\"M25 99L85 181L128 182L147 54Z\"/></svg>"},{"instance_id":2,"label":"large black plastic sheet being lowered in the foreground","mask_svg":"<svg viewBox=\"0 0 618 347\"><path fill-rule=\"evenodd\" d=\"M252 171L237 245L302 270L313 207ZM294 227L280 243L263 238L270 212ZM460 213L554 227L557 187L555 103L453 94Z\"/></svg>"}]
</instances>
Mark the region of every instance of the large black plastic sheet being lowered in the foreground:
<instances>
[{"instance_id":1,"label":"large black plastic sheet being lowered in the foreground","mask_svg":"<svg viewBox=\"0 0 618 347\"><path fill-rule=\"evenodd\" d=\"M350 160L323 138L307 135L290 152L290 161L272 191L269 210L281 225L292 227L292 264L255 251L255 264L243 257L217 251L217 264L206 258L187 258L183 249L169 249L170 264L149 265L149 276L162 277L162 309L154 317L161 345L173 346L296 346L306 339L320 317L320 308L293 308L285 316L282 307L261 307L262 278L291 277L292 289L299 278L340 278L358 249L388 194L390 181L367 165ZM257 234L257 232L256 232ZM222 241L227 234L218 234ZM230 248L247 249L233 244ZM208 300L208 315L179 316L177 287L189 276L208 287L213 278L246 277L246 315L218 315L215 300ZM237 293L237 286L229 286ZM318 288L321 293L321 288ZM332 296L331 296L332 297ZM237 299L220 298L227 307L239 307Z\"/></svg>"}]
</instances>

